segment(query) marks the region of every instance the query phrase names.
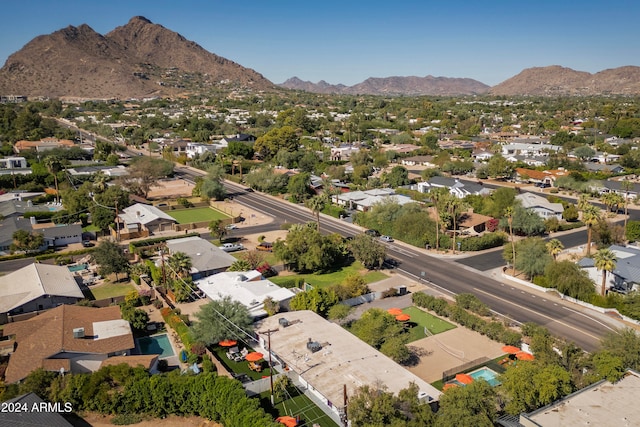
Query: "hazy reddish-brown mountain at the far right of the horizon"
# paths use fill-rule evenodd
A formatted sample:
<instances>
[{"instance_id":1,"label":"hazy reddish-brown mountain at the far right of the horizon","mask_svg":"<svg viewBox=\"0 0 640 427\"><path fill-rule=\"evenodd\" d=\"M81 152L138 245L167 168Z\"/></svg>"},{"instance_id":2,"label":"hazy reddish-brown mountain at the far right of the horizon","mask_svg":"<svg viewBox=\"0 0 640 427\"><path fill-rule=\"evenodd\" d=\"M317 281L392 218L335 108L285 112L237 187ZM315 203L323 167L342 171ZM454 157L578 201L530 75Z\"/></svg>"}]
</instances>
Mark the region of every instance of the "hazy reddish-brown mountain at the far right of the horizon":
<instances>
[{"instance_id":1,"label":"hazy reddish-brown mountain at the far right of the horizon","mask_svg":"<svg viewBox=\"0 0 640 427\"><path fill-rule=\"evenodd\" d=\"M489 93L506 96L640 95L640 67L619 67L595 74L559 65L528 68L492 87Z\"/></svg>"}]
</instances>

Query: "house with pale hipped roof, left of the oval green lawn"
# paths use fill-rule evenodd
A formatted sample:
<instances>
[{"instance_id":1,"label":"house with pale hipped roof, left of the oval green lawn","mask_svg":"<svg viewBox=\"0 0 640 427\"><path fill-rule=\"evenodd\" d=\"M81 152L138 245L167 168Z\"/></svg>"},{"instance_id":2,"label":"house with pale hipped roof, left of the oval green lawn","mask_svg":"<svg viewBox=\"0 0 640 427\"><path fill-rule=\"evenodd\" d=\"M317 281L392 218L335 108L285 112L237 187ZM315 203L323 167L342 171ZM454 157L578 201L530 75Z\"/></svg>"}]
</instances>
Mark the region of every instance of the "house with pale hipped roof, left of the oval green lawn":
<instances>
[{"instance_id":1,"label":"house with pale hipped roof, left of the oval green lawn","mask_svg":"<svg viewBox=\"0 0 640 427\"><path fill-rule=\"evenodd\" d=\"M177 221L152 205L136 203L122 210L118 215L116 226L120 228L120 238L123 240L136 237L147 237L158 231L173 229ZM116 230L111 233L116 235Z\"/></svg>"}]
</instances>

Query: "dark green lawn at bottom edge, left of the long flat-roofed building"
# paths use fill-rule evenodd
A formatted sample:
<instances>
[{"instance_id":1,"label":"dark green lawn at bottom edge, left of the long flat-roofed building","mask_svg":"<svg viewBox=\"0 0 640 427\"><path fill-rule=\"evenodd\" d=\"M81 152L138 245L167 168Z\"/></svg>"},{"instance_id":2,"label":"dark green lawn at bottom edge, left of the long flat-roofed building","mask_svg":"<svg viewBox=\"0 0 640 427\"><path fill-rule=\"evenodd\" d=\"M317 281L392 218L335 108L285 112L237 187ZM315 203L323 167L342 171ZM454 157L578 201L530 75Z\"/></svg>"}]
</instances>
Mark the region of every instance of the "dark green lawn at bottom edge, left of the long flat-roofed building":
<instances>
[{"instance_id":1,"label":"dark green lawn at bottom edge, left of the long flat-roofed building","mask_svg":"<svg viewBox=\"0 0 640 427\"><path fill-rule=\"evenodd\" d=\"M276 400L275 408L271 406L270 393L267 391L260 394L260 406L273 418L282 416L300 416L300 427L311 427L315 424L321 427L338 427L333 420L320 408L316 406L307 396L302 394L297 388L289 390L290 397L284 401Z\"/></svg>"}]
</instances>

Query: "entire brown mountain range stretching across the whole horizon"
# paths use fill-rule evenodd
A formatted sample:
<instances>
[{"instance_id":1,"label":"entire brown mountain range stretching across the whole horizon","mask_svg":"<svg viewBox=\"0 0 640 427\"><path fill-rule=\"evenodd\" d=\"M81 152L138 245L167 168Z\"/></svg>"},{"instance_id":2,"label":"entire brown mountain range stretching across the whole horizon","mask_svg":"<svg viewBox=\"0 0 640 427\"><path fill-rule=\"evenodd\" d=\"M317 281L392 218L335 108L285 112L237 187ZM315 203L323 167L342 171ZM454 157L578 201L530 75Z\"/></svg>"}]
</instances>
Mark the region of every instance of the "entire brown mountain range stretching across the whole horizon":
<instances>
[{"instance_id":1,"label":"entire brown mountain range stretching across the whole horizon","mask_svg":"<svg viewBox=\"0 0 640 427\"><path fill-rule=\"evenodd\" d=\"M555 65L529 68L494 87L468 78L433 76L370 77L353 86L292 77L275 85L250 68L136 16L104 36L86 24L38 36L0 69L0 95L127 99L188 95L218 86L386 96L640 95L640 67L595 74Z\"/></svg>"}]
</instances>

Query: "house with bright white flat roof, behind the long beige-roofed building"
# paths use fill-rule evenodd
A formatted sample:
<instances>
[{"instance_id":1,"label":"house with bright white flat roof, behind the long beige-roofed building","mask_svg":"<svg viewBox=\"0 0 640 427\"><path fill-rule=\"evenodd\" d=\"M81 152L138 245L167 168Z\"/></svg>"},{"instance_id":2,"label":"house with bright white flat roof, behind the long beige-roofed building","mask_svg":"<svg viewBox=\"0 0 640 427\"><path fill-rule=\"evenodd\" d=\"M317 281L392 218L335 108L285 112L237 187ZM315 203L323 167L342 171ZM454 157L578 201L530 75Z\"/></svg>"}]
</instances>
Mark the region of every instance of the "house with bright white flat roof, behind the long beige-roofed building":
<instances>
[{"instance_id":1,"label":"house with bright white flat roof, behind the long beige-roofed building","mask_svg":"<svg viewBox=\"0 0 640 427\"><path fill-rule=\"evenodd\" d=\"M195 282L196 286L211 300L225 297L240 302L249 309L254 318L267 316L264 300L271 298L282 308L287 308L295 296L290 289L281 288L270 280L262 279L257 270L240 272L225 271Z\"/></svg>"}]
</instances>

